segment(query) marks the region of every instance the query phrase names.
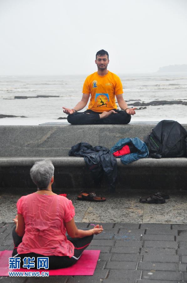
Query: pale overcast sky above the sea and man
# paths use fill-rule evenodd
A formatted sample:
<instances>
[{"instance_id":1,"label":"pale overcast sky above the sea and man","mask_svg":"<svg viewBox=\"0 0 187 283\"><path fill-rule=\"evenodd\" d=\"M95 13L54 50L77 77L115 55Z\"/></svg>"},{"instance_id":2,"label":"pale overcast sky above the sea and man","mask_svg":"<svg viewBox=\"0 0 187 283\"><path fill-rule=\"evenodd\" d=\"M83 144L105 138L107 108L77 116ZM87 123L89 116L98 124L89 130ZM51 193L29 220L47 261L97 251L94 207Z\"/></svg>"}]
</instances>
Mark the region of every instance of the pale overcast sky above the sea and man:
<instances>
[{"instance_id":1,"label":"pale overcast sky above the sea and man","mask_svg":"<svg viewBox=\"0 0 187 283\"><path fill-rule=\"evenodd\" d=\"M0 0L0 75L117 74L187 64L186 0Z\"/></svg>"}]
</instances>

